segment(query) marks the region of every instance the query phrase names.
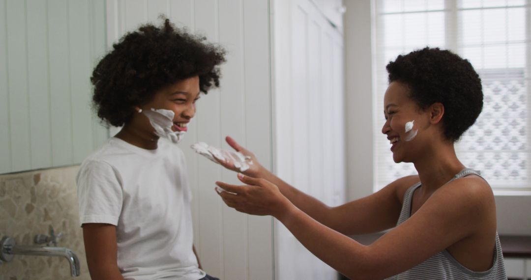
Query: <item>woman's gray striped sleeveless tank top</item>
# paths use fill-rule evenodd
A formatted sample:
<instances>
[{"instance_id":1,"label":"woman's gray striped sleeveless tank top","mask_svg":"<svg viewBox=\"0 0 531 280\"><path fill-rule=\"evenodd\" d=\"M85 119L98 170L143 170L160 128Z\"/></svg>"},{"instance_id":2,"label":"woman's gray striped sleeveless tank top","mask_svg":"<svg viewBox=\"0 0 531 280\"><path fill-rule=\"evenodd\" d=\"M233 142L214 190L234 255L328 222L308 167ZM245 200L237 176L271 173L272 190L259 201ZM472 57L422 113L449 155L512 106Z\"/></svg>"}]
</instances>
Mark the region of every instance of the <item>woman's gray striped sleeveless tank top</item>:
<instances>
[{"instance_id":1,"label":"woman's gray striped sleeveless tank top","mask_svg":"<svg viewBox=\"0 0 531 280\"><path fill-rule=\"evenodd\" d=\"M469 174L476 174L479 176L478 171L472 169L464 169L453 177L449 182L465 177ZM481 176L480 176L481 177ZM483 177L482 177L483 178ZM411 203L413 192L421 186L421 182L416 183L407 189L404 195L404 203L402 203L402 211L398 218L397 225L405 222L411 212ZM507 280L505 272L505 265L503 264L503 255L501 251L500 239L496 232L496 247L494 254L494 262L489 270L484 272L474 272L463 265L461 265L455 258L450 255L447 250L443 250L436 253L434 256L425 260L421 264L388 279L504 279Z\"/></svg>"}]
</instances>

